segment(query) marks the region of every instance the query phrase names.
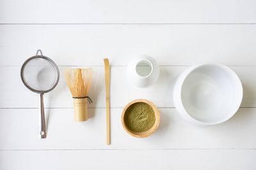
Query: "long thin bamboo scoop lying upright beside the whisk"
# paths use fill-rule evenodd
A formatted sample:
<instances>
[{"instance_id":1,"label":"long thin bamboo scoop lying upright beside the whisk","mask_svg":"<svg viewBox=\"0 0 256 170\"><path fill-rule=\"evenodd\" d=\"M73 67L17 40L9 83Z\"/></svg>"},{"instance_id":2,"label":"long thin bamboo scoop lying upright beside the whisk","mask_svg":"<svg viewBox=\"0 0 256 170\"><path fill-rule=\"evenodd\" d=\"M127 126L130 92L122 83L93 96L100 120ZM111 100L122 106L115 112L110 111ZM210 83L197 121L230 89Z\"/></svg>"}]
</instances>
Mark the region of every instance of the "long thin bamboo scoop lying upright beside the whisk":
<instances>
[{"instance_id":1,"label":"long thin bamboo scoop lying upright beside the whisk","mask_svg":"<svg viewBox=\"0 0 256 170\"><path fill-rule=\"evenodd\" d=\"M109 109L110 67L109 67L108 59L104 59L104 66L105 66L105 83L106 83L107 145L110 145L110 109Z\"/></svg>"}]
</instances>

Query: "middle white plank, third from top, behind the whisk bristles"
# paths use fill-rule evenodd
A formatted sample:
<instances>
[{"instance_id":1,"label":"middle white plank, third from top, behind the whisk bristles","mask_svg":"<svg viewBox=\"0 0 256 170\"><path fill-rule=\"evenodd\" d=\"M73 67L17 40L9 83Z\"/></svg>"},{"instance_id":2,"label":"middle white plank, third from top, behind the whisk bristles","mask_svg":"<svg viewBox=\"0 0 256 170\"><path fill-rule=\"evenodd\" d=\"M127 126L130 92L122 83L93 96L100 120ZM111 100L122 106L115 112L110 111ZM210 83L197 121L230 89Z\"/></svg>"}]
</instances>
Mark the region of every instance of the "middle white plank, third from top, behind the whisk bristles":
<instances>
[{"instance_id":1,"label":"middle white plank, third from top, behind the whisk bristles","mask_svg":"<svg viewBox=\"0 0 256 170\"><path fill-rule=\"evenodd\" d=\"M74 67L74 66L73 66ZM63 70L72 66L60 66L60 82L56 89L45 94L46 108L72 108L73 99L65 81ZM172 90L176 78L188 66L161 66L157 83L151 87L140 89L132 86L126 79L125 66L111 67L111 108L124 106L138 98L147 98L158 108L173 108ZM243 82L244 97L241 107L256 107L256 66L231 66ZM94 74L89 95L94 103L90 108L105 107L104 66L93 66ZM3 81L0 83L1 108L36 108L38 107L37 94L26 89L20 80L20 66L2 66L0 73ZM19 84L19 86L17 86ZM15 93L13 93L15 89ZM156 91L157 90L157 91Z\"/></svg>"}]
</instances>

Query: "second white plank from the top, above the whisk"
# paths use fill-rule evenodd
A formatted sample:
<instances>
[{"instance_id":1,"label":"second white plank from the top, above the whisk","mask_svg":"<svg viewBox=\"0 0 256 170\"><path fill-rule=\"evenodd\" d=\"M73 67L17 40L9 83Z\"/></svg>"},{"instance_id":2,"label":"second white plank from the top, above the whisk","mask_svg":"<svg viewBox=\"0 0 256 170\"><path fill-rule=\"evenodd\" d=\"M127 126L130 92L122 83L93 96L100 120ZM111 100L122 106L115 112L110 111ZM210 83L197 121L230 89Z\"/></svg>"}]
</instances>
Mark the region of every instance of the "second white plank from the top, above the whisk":
<instances>
[{"instance_id":1,"label":"second white plank from the top, above the whisk","mask_svg":"<svg viewBox=\"0 0 256 170\"><path fill-rule=\"evenodd\" d=\"M255 30L254 24L1 25L0 66L20 66L38 48L59 66L103 66L103 57L125 66L141 53L161 66L255 66Z\"/></svg>"}]
</instances>

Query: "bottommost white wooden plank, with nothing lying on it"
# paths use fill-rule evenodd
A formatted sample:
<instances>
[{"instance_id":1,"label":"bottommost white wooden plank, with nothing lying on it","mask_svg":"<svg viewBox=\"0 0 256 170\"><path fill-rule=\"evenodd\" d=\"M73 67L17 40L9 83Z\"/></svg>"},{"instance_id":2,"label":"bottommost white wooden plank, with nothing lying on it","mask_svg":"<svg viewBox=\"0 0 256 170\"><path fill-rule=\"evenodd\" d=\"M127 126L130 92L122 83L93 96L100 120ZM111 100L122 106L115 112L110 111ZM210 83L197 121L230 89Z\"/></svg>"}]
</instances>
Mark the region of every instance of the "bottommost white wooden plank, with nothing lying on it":
<instances>
[{"instance_id":1,"label":"bottommost white wooden plank, with nothing lying on it","mask_svg":"<svg viewBox=\"0 0 256 170\"><path fill-rule=\"evenodd\" d=\"M24 157L26 159L24 159ZM1 169L248 169L253 150L0 151ZM40 158L40 159L38 159ZM15 163L14 163L15 162ZM44 164L42 164L44 162ZM122 167L120 167L122 166Z\"/></svg>"}]
</instances>

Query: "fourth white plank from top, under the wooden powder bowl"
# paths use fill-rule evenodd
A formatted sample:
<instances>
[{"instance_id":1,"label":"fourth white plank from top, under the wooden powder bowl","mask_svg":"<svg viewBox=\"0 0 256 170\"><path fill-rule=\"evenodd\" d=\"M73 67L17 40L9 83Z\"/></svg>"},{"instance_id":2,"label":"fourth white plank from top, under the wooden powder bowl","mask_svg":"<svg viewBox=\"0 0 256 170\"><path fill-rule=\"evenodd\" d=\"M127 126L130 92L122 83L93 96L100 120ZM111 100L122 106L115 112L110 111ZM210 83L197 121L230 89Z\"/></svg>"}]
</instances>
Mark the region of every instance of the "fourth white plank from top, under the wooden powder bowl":
<instances>
[{"instance_id":1,"label":"fourth white plank from top, under the wooden powder bowl","mask_svg":"<svg viewBox=\"0 0 256 170\"><path fill-rule=\"evenodd\" d=\"M104 108L90 109L88 122L74 122L73 109L46 110L47 139L37 138L36 109L1 110L2 150L79 149L252 149L256 109L241 108L228 122L210 127L188 124L174 108L160 108L159 129L148 138L134 138L124 131L122 108L111 109L111 145L106 145ZM19 142L18 142L19 141Z\"/></svg>"}]
</instances>

